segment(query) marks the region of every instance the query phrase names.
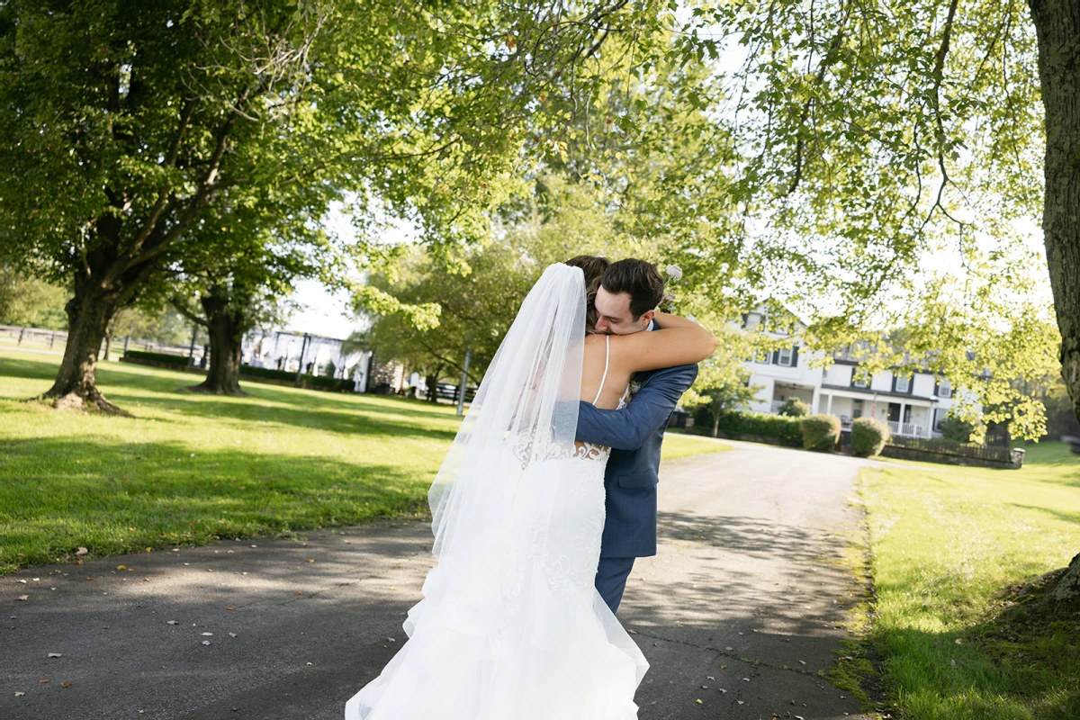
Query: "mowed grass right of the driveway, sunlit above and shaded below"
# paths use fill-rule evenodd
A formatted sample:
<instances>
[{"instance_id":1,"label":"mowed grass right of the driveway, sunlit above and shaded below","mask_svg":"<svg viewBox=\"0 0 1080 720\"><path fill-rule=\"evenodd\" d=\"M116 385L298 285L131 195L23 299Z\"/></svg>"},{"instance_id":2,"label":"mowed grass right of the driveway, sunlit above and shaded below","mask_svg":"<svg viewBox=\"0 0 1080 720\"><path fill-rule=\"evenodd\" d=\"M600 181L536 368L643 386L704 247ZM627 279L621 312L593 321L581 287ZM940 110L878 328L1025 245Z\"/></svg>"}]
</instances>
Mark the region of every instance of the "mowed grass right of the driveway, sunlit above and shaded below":
<instances>
[{"instance_id":1,"label":"mowed grass right of the driveway, sunlit above and shaded below","mask_svg":"<svg viewBox=\"0 0 1080 720\"><path fill-rule=\"evenodd\" d=\"M1080 718L1080 616L1017 590L1080 552L1080 456L1044 443L1018 471L905 464L862 484L893 717Z\"/></svg>"}]
</instances>

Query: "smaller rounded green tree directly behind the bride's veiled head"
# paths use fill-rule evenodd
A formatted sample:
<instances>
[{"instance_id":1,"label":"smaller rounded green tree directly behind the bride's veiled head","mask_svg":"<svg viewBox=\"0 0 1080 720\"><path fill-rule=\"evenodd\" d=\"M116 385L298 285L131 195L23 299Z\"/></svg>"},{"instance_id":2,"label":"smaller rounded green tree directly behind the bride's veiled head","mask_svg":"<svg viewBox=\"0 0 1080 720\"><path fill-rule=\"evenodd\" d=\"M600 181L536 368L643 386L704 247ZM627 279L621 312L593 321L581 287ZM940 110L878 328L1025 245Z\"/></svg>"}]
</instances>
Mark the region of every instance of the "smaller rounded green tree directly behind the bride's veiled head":
<instances>
[{"instance_id":1,"label":"smaller rounded green tree directly behind the bride's veiled head","mask_svg":"<svg viewBox=\"0 0 1080 720\"><path fill-rule=\"evenodd\" d=\"M430 248L410 247L392 271L373 275L365 286L403 303L374 316L367 341L381 358L423 373L430 392L440 379L460 379L467 353L469 378L478 383L548 264L586 253L621 257L638 249L615 229L604 200L589 184L541 174L534 192L504 207L489 236L453 263ZM370 307L364 296L356 301Z\"/></svg>"}]
</instances>

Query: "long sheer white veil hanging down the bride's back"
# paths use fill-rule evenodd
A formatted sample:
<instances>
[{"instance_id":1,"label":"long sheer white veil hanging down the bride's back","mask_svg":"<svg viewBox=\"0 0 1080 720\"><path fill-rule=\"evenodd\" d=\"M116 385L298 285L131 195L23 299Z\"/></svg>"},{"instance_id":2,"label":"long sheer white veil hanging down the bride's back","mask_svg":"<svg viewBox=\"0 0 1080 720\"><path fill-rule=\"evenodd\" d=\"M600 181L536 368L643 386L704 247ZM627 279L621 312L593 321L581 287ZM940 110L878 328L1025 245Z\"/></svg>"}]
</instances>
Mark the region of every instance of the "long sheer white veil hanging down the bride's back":
<instances>
[{"instance_id":1,"label":"long sheer white veil hanging down the bride's back","mask_svg":"<svg viewBox=\"0 0 1080 720\"><path fill-rule=\"evenodd\" d=\"M532 471L575 453L584 334L581 269L548 266L428 492L438 566L424 582L426 598L467 588L468 614L508 609L530 553L546 542L554 501L552 484ZM422 604L410 612L409 635Z\"/></svg>"}]
</instances>

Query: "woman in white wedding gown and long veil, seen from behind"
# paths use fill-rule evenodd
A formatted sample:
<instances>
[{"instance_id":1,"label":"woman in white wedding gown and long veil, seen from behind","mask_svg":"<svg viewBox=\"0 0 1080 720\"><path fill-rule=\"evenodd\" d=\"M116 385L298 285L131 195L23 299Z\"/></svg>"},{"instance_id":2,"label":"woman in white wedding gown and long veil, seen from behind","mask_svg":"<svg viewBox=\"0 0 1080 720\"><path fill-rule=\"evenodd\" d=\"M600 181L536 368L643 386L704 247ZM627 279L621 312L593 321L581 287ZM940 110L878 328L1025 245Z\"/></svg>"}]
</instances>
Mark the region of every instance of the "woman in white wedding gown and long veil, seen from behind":
<instances>
[{"instance_id":1,"label":"woman in white wedding gown and long veil, seen from behind","mask_svg":"<svg viewBox=\"0 0 1080 720\"><path fill-rule=\"evenodd\" d=\"M696 323L592 327L598 277L549 266L529 291L428 499L438 563L408 641L346 720L632 720L648 663L593 582L609 448L575 440L578 403L623 407L636 371L698 363Z\"/></svg>"}]
</instances>

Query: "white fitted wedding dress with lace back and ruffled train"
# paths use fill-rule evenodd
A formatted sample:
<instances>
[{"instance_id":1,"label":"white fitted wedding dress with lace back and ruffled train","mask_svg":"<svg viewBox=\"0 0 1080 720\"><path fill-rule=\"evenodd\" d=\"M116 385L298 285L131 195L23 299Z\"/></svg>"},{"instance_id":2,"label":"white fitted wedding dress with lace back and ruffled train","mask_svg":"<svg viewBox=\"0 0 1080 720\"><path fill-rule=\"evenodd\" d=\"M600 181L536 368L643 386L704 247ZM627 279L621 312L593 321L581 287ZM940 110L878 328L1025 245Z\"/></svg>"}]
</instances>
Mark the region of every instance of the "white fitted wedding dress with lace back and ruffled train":
<instances>
[{"instance_id":1,"label":"white fitted wedding dress with lace back and ruffled train","mask_svg":"<svg viewBox=\"0 0 1080 720\"><path fill-rule=\"evenodd\" d=\"M556 266L549 271L552 268ZM563 279L571 270L558 268ZM526 314L528 302L518 318ZM508 340L512 334L513 328ZM576 371L572 368L580 357L573 352L580 350L575 340L577 335L568 341L567 367L554 372L556 384L580 378L580 365ZM546 351L551 344L540 340L537 347ZM536 358L542 353L525 355ZM535 367L551 373L550 361L535 362L539 363ZM537 388L542 394L551 383L536 380L536 375L523 376L527 380L522 386L528 388L523 391L528 396L524 403L543 406L536 402ZM620 407L625 397L624 393ZM575 392L575 424L577 399ZM483 412L496 402L486 399ZM513 419L529 415L523 412L521 398L515 402ZM538 436L546 433L535 431L549 427L548 423L561 427L569 422L561 415L568 408L563 403L550 411L541 409L539 425L529 416L530 422L492 433L494 437L478 437L475 424L462 431L465 444L483 440L484 457L457 467L457 481L468 479L476 492L472 500L457 501L462 510L453 518L458 529L455 552L447 552L443 542L440 562L424 581L423 599L405 621L409 639L382 673L347 702L346 720L637 718L633 698L648 663L593 585L604 530L604 470L610 450L568 443L565 435L561 441L544 443ZM501 421L498 426L503 426ZM528 427L534 431L524 432ZM487 513L497 507L499 516L471 513L469 503L478 499L478 508ZM445 498L433 494L436 547L444 529L441 519L449 512L441 501ZM465 518L472 518L472 524Z\"/></svg>"}]
</instances>

